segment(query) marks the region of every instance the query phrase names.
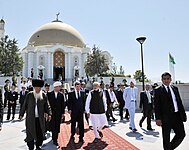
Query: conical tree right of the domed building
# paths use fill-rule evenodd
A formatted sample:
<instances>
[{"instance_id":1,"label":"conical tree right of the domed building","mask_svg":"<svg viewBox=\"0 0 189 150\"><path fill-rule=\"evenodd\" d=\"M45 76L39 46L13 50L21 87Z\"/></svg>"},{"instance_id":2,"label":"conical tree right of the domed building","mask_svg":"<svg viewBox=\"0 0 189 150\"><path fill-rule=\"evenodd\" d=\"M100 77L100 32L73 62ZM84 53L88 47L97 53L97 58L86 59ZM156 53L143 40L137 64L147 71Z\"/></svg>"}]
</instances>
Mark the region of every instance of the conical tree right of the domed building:
<instances>
[{"instance_id":1,"label":"conical tree right of the domed building","mask_svg":"<svg viewBox=\"0 0 189 150\"><path fill-rule=\"evenodd\" d=\"M94 45L92 53L87 56L85 62L85 72L89 76L101 75L109 70L108 65L105 62L105 58L101 53L101 50Z\"/></svg>"}]
</instances>

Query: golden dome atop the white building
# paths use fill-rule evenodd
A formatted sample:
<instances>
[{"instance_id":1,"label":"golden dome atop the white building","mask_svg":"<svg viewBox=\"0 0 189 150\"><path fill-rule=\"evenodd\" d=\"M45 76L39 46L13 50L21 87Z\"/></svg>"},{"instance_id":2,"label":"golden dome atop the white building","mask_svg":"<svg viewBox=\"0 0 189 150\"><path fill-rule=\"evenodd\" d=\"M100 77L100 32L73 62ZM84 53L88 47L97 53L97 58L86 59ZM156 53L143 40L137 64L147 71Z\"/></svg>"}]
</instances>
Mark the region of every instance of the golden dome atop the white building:
<instances>
[{"instance_id":1,"label":"golden dome atop the white building","mask_svg":"<svg viewBox=\"0 0 189 150\"><path fill-rule=\"evenodd\" d=\"M63 44L66 46L85 47L81 34L72 26L61 21L42 25L29 39L34 46Z\"/></svg>"}]
</instances>

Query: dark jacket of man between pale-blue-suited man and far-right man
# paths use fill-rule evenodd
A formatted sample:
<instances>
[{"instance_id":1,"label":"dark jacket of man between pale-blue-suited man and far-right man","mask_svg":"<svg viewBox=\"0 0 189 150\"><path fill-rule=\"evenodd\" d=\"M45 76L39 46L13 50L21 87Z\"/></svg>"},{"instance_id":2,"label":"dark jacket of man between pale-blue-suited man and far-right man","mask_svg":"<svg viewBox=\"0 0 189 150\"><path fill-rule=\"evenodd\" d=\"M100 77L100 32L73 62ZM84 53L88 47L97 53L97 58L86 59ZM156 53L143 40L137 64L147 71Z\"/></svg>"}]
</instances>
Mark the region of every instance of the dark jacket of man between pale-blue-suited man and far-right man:
<instances>
[{"instance_id":1,"label":"dark jacket of man between pale-blue-suited man and far-right man","mask_svg":"<svg viewBox=\"0 0 189 150\"><path fill-rule=\"evenodd\" d=\"M151 97L151 104L149 105L148 103L148 96L146 94L146 91L142 91L140 93L140 108L143 108L143 110L149 110L153 108L153 99L152 99L152 95L150 93L150 97Z\"/></svg>"}]
</instances>

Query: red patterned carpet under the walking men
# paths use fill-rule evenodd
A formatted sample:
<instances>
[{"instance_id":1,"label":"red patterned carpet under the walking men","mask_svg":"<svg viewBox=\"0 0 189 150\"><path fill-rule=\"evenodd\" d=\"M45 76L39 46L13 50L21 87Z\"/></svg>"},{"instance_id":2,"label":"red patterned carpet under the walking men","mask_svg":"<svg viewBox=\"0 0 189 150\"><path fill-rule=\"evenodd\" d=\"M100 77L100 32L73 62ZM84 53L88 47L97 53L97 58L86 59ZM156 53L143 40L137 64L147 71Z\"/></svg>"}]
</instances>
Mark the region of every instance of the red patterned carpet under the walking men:
<instances>
[{"instance_id":1,"label":"red patterned carpet under the walking men","mask_svg":"<svg viewBox=\"0 0 189 150\"><path fill-rule=\"evenodd\" d=\"M127 142L125 139L117 135L115 132L111 131L109 128L104 129L103 138L99 139L97 143L93 143L94 133L93 130L89 130L87 123L85 122L85 134L84 143L78 143L79 135L75 135L75 141L70 140L70 117L66 114L65 123L61 125L61 131L59 135L59 150L139 150L131 143Z\"/></svg>"}]
</instances>

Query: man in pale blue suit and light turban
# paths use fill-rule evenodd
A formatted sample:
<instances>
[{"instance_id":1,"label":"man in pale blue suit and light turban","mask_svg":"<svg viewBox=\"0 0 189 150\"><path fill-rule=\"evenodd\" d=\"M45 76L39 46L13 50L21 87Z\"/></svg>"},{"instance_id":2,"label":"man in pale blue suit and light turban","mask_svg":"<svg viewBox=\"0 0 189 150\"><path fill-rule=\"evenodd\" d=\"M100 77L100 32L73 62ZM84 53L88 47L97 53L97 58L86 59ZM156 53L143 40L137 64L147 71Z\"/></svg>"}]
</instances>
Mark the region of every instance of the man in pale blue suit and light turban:
<instances>
[{"instance_id":1,"label":"man in pale blue suit and light turban","mask_svg":"<svg viewBox=\"0 0 189 150\"><path fill-rule=\"evenodd\" d=\"M135 81L131 80L130 86L125 88L123 92L123 99L125 100L125 108L128 109L130 115L129 129L131 129L133 132L137 131L134 121L137 95L138 95L138 88L135 87Z\"/></svg>"}]
</instances>

